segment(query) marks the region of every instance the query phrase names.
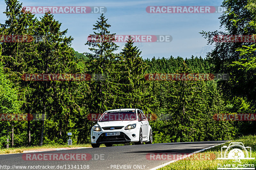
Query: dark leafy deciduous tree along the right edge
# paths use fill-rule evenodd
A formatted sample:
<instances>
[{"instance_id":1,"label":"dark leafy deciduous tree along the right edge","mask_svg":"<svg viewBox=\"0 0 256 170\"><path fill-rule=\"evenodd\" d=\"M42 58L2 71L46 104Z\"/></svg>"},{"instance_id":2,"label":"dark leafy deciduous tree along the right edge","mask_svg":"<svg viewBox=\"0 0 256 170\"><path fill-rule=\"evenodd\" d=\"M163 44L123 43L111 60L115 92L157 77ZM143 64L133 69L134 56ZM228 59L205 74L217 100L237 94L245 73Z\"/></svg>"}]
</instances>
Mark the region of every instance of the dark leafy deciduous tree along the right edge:
<instances>
[{"instance_id":1,"label":"dark leafy deciduous tree along the right edge","mask_svg":"<svg viewBox=\"0 0 256 170\"><path fill-rule=\"evenodd\" d=\"M220 24L225 32L202 32L208 43L212 43L214 35L252 35L255 28L255 0L225 0L223 7L228 11L221 15ZM228 73L228 81L219 82L223 92L225 113L255 113L255 43L254 42L216 42L215 48L208 53L214 71ZM224 106L225 106L224 105ZM255 134L255 121L234 122L237 135Z\"/></svg>"}]
</instances>

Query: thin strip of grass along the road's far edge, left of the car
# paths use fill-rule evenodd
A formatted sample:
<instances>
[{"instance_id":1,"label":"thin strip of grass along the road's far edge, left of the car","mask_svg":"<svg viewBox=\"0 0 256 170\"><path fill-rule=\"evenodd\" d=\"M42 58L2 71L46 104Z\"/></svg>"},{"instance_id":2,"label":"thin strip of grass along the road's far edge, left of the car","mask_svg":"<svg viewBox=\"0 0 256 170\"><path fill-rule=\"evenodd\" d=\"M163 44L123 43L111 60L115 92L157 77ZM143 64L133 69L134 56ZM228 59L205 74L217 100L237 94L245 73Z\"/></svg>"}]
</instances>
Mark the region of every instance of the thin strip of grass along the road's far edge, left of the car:
<instances>
[{"instance_id":1,"label":"thin strip of grass along the road's far edge, left of the car","mask_svg":"<svg viewBox=\"0 0 256 170\"><path fill-rule=\"evenodd\" d=\"M30 146L30 147L13 147L9 149L0 149L0 154L8 154L8 153L22 153L24 151L34 151L40 149L49 149L49 148L76 148L76 147L92 147L91 144L73 144L71 146L66 145L43 145L43 146ZM105 145L100 145L100 147L105 147Z\"/></svg>"}]
</instances>

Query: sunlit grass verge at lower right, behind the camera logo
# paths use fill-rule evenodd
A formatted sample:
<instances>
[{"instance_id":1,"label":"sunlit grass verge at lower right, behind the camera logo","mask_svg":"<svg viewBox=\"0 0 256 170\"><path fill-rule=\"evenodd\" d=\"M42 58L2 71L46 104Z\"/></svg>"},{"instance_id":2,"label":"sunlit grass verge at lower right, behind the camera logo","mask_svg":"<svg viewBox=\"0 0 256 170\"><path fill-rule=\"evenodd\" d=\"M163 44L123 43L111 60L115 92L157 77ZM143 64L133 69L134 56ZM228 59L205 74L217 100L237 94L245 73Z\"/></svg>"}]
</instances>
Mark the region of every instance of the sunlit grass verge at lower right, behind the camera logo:
<instances>
[{"instance_id":1,"label":"sunlit grass verge at lower right, behind the camera logo","mask_svg":"<svg viewBox=\"0 0 256 170\"><path fill-rule=\"evenodd\" d=\"M244 146L249 146L252 148L252 157L256 157L256 136L244 136L239 139L229 141L225 144L221 144L219 146L213 147L209 150L200 153L212 153L216 155L216 158L213 160L193 160L193 159L186 159L186 160L179 160L170 165L164 166L159 170L216 170L219 164L237 164L232 162L232 160L219 160L218 157L221 157L221 147L228 144L230 142L242 142ZM254 164L256 167L256 160L241 160L241 164Z\"/></svg>"}]
</instances>

